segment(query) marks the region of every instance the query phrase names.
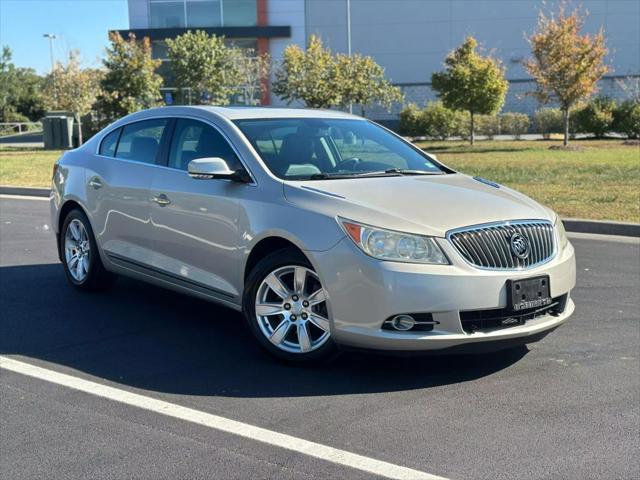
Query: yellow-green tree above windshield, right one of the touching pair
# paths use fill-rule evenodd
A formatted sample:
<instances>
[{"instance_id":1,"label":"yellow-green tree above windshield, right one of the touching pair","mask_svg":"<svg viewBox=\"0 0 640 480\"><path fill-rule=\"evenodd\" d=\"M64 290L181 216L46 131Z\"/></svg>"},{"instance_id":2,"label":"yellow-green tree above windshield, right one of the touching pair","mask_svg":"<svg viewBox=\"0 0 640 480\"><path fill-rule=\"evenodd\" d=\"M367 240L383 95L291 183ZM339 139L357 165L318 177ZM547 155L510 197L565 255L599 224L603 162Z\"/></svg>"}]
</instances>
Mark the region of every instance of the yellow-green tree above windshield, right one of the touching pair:
<instances>
[{"instance_id":1,"label":"yellow-green tree above windshield, right one of the touching pair","mask_svg":"<svg viewBox=\"0 0 640 480\"><path fill-rule=\"evenodd\" d=\"M363 117L368 105L378 103L389 108L393 102L402 101L400 89L384 78L384 68L371 57L339 54L336 69L341 105L360 105Z\"/></svg>"}]
</instances>

